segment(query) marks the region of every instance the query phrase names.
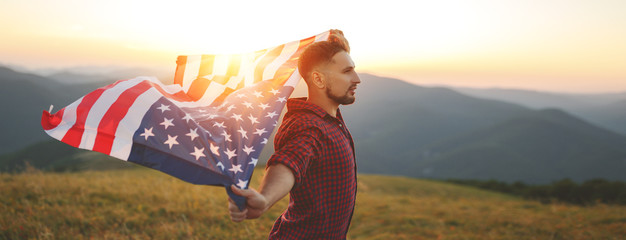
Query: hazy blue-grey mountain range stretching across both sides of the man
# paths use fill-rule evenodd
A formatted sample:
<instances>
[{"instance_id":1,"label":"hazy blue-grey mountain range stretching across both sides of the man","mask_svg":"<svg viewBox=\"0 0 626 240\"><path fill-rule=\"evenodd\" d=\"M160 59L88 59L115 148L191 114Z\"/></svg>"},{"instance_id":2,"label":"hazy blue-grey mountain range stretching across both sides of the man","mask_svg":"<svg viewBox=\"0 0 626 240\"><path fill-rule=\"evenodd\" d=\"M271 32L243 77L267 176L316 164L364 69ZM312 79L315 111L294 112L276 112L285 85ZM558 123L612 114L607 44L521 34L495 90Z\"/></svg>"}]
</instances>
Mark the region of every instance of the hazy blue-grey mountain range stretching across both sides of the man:
<instances>
[{"instance_id":1,"label":"hazy blue-grey mountain range stretching across both sides of the man","mask_svg":"<svg viewBox=\"0 0 626 240\"><path fill-rule=\"evenodd\" d=\"M545 103L504 101L495 97L497 94L360 76L357 102L342 107L355 139L359 172L527 183L562 178L626 181L626 136L619 130L626 125L626 121L619 122L626 111L616 110L624 107L626 97L622 95L587 98L602 100L600 104L610 107L592 108L595 112L589 111L583 118L580 112L559 107L562 104L546 109ZM70 85L0 68L0 109L12 116L3 118L0 125L5 136L0 142L0 154L5 154L0 156L0 169L15 169L27 159L38 168L82 169L89 168L85 159L93 158L98 159L92 161L98 162L97 168L103 168L106 156L61 147L62 143L50 141L39 121L41 111L50 104L66 106L107 83ZM600 124L589 116L617 124ZM264 149L262 158L271 154L271 147ZM54 157L50 149L64 150ZM76 163L80 167L67 166Z\"/></svg>"}]
</instances>

